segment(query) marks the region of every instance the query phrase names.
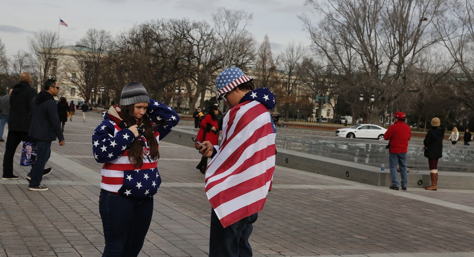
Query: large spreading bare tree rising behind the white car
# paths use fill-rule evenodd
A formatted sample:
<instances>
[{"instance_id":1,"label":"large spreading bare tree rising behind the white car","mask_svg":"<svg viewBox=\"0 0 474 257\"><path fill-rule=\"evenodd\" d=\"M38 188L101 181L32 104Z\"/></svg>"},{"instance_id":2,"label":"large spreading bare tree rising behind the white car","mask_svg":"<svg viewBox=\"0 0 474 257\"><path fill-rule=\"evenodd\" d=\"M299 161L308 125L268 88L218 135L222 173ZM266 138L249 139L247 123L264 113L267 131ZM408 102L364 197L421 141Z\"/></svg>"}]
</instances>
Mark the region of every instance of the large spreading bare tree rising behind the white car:
<instances>
[{"instance_id":1,"label":"large spreading bare tree rising behind the white car","mask_svg":"<svg viewBox=\"0 0 474 257\"><path fill-rule=\"evenodd\" d=\"M300 18L315 51L335 68L343 85L356 95L374 94L376 120L392 101L414 90L408 74L416 68L417 56L439 42L429 24L442 13L442 1L306 0L323 19L314 26L308 16ZM357 105L357 97L352 101Z\"/></svg>"}]
</instances>

